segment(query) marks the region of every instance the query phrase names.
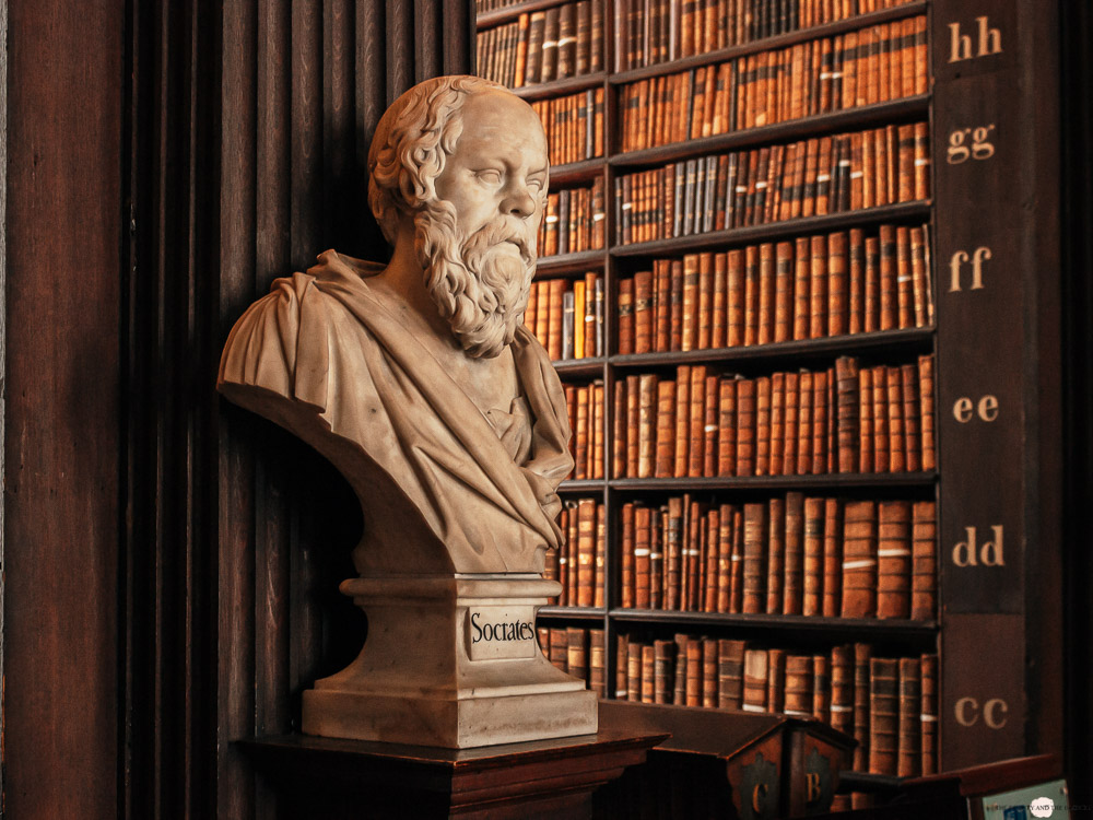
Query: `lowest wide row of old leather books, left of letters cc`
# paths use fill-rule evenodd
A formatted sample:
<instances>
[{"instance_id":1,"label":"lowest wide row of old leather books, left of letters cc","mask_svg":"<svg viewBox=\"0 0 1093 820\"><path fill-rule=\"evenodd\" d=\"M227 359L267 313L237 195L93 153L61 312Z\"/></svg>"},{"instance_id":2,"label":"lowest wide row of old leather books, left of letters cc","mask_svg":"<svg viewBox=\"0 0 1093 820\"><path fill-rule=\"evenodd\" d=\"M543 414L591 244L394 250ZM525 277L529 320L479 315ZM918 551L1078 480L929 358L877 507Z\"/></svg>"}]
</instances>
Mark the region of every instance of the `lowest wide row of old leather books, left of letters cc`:
<instances>
[{"instance_id":1,"label":"lowest wide row of old leather books, left of letters cc","mask_svg":"<svg viewBox=\"0 0 1093 820\"><path fill-rule=\"evenodd\" d=\"M937 771L937 655L873 657L863 643L806 654L680 634L620 635L615 658L616 700L815 717L857 739L857 771Z\"/></svg>"}]
</instances>

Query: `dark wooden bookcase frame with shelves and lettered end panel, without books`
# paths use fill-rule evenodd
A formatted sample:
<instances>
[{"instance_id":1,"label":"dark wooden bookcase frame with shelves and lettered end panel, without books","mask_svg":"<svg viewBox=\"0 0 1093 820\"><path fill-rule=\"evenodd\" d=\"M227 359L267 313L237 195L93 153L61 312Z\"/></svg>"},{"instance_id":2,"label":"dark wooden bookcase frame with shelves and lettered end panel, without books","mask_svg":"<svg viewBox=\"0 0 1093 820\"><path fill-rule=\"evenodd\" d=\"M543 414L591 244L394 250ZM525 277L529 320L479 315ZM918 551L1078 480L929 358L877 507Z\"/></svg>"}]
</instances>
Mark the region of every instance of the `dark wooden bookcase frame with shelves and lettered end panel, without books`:
<instances>
[{"instance_id":1,"label":"dark wooden bookcase frame with shelves and lettered end panel, without books","mask_svg":"<svg viewBox=\"0 0 1093 820\"><path fill-rule=\"evenodd\" d=\"M516 89L529 102L602 89L603 157L554 167L551 190L602 177L607 247L542 258L539 279L604 278L606 356L556 362L564 383L602 379L602 480L566 481L563 499L596 497L607 511L602 608L548 607L540 625L602 629L608 696L615 641L627 633L671 637L687 631L767 646L831 647L869 642L874 655L940 654L939 753L942 769L1061 748L1061 583L1058 316L1056 10L1020 0L918 0L672 62L611 72L614 9L602 0L608 72ZM531 0L481 13L479 31L559 4ZM927 15L929 92L772 126L620 152L620 89L725 60L868 25ZM813 134L913 120L929 122L931 198L679 238L619 245L612 198L631 171ZM960 145L957 145L960 141ZM961 147L969 149L966 159ZM974 149L974 151L972 150ZM721 251L880 223L928 224L933 326L747 348L619 355L618 282L653 259ZM977 251L977 249L979 249ZM935 355L938 469L912 473L834 473L756 478L633 479L610 475L612 385L627 373L712 364L745 374L834 363ZM713 614L623 609L620 522L623 503L695 493L718 501L772 493L855 499L936 500L936 620ZM975 539L972 561L969 539ZM994 548L986 549L988 542ZM963 546L962 546L963 544Z\"/></svg>"}]
</instances>

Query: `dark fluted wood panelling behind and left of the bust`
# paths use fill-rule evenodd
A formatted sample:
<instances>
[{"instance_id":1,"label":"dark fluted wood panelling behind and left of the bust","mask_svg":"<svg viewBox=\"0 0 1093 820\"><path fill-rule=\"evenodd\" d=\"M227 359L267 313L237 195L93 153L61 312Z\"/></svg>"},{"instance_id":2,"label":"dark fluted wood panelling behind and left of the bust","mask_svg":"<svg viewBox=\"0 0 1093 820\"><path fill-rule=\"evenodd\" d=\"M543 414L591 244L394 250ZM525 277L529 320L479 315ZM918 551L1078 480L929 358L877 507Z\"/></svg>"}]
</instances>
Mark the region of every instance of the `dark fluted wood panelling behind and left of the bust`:
<instances>
[{"instance_id":1,"label":"dark fluted wood panelling behind and left of the bust","mask_svg":"<svg viewBox=\"0 0 1093 820\"><path fill-rule=\"evenodd\" d=\"M122 766L130 818L274 816L233 741L283 733L360 648L341 478L214 393L280 276L386 259L366 156L398 94L469 67L451 0L129 5Z\"/></svg>"}]
</instances>

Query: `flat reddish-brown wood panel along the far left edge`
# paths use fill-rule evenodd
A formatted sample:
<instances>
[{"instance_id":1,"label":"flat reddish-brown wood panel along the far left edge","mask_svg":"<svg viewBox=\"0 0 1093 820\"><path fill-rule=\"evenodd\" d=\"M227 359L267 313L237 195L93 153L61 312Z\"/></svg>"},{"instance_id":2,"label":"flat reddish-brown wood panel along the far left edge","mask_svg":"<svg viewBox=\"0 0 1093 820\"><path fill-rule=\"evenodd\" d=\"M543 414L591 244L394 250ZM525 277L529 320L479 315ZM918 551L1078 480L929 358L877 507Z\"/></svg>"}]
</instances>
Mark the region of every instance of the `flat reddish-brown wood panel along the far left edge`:
<instances>
[{"instance_id":1,"label":"flat reddish-brown wood panel along the far left edge","mask_svg":"<svg viewBox=\"0 0 1093 820\"><path fill-rule=\"evenodd\" d=\"M114 818L126 5L4 9L3 808Z\"/></svg>"}]
</instances>

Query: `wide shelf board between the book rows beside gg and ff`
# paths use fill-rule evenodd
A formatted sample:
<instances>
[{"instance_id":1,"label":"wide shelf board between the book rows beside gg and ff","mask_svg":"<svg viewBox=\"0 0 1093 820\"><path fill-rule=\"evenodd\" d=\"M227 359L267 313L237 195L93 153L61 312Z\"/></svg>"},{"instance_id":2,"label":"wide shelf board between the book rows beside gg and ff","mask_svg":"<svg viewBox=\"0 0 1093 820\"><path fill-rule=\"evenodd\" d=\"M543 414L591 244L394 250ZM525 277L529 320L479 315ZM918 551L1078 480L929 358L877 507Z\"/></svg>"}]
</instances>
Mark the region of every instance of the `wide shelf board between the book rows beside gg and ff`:
<instances>
[{"instance_id":1,"label":"wide shelf board between the book rows beside gg and ff","mask_svg":"<svg viewBox=\"0 0 1093 820\"><path fill-rule=\"evenodd\" d=\"M710 231L709 233L692 234L690 236L674 236L670 239L616 245L609 253L613 257L680 255L692 250L709 250L720 246L781 239L789 236L838 231L844 227L859 227L880 222L913 218L927 219L929 214L930 200L898 202L877 208L862 208L856 211L825 213L821 216L802 216L796 220L767 222L763 225L748 225L747 227L730 227L725 231Z\"/></svg>"}]
</instances>

